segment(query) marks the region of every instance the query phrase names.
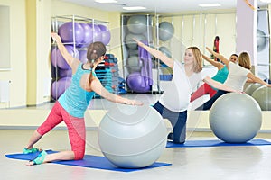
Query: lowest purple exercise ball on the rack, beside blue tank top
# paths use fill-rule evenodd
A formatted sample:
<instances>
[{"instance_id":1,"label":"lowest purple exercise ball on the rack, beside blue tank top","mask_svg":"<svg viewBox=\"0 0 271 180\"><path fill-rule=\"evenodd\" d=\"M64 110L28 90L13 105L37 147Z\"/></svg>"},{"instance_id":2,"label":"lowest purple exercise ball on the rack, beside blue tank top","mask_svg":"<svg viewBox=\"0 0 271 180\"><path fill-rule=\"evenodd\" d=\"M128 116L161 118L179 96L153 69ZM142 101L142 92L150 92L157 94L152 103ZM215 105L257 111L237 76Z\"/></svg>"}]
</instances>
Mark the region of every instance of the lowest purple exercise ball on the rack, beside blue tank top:
<instances>
[{"instance_id":1,"label":"lowest purple exercise ball on the rack, beside blue tank top","mask_svg":"<svg viewBox=\"0 0 271 180\"><path fill-rule=\"evenodd\" d=\"M70 76L62 77L59 80L54 81L51 84L51 97L54 100L59 99L61 94L63 94L65 90L70 86L70 83L71 83Z\"/></svg>"}]
</instances>

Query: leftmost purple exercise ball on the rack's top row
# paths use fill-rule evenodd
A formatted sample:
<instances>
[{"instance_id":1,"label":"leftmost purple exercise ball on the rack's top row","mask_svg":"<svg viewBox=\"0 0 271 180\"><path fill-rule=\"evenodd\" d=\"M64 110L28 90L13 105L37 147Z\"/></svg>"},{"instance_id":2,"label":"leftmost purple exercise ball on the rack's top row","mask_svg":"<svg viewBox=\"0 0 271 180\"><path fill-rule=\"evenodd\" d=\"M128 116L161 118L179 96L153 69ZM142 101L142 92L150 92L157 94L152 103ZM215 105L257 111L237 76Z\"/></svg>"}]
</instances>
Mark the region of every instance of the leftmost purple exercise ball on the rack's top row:
<instances>
[{"instance_id":1,"label":"leftmost purple exercise ball on the rack's top row","mask_svg":"<svg viewBox=\"0 0 271 180\"><path fill-rule=\"evenodd\" d=\"M74 30L74 31L73 31ZM59 28L59 35L62 42L81 43L85 38L84 29L80 23L67 22L63 23ZM73 34L75 39L73 40Z\"/></svg>"}]
</instances>

